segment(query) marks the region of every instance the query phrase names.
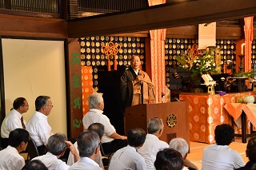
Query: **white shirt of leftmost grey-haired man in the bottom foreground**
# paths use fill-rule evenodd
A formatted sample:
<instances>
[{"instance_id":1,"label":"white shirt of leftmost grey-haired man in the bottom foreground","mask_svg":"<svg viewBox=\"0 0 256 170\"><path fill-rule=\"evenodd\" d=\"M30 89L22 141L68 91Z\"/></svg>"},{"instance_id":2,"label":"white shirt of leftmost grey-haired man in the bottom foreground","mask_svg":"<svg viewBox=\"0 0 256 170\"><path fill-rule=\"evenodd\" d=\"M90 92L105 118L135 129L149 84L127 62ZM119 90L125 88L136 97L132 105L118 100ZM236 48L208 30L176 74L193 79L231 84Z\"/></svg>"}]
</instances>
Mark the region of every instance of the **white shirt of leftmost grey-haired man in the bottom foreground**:
<instances>
[{"instance_id":1,"label":"white shirt of leftmost grey-haired man in the bottom foreground","mask_svg":"<svg viewBox=\"0 0 256 170\"><path fill-rule=\"evenodd\" d=\"M69 165L59 160L57 156L54 156L50 152L47 152L46 155L43 156L37 156L33 160L41 160L49 170L68 170L70 168Z\"/></svg>"}]
</instances>

